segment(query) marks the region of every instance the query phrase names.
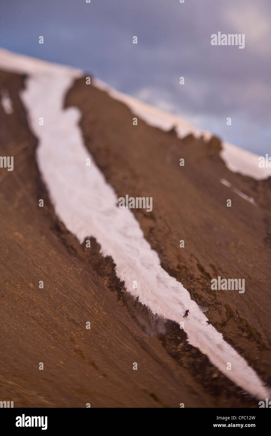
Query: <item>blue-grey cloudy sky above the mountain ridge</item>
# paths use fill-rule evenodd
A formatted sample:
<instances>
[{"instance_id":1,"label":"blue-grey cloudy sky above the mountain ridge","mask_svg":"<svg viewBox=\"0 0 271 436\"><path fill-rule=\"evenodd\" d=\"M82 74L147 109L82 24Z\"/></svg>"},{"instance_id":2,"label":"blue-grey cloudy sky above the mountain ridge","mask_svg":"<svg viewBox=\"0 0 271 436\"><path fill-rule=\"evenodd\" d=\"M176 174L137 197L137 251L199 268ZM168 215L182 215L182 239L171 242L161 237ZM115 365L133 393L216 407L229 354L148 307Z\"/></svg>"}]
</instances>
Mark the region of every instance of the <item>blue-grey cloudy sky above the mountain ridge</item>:
<instances>
[{"instance_id":1,"label":"blue-grey cloudy sky above the mountain ridge","mask_svg":"<svg viewBox=\"0 0 271 436\"><path fill-rule=\"evenodd\" d=\"M0 0L0 10L1 47L82 68L223 140L271 153L270 0ZM245 48L212 46L218 31L245 34Z\"/></svg>"}]
</instances>

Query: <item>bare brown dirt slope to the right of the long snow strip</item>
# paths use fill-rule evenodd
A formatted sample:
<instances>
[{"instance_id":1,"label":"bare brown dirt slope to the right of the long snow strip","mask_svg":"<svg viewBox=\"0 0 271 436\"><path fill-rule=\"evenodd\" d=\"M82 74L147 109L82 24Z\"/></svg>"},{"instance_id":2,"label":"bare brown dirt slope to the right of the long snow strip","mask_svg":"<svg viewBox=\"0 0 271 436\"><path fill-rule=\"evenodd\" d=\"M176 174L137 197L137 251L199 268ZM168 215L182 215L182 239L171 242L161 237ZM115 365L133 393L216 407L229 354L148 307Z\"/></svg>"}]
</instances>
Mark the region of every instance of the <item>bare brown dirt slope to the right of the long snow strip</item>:
<instances>
[{"instance_id":1,"label":"bare brown dirt slope to the right of the long snow strip","mask_svg":"<svg viewBox=\"0 0 271 436\"><path fill-rule=\"evenodd\" d=\"M134 126L127 106L84 78L68 93L70 105L82 111L85 144L118 197L153 197L152 212L132 211L164 269L208 308L211 323L270 384L271 178L255 181L229 171L215 137L180 140L174 129L163 132L140 117ZM245 279L245 292L211 290L218 276Z\"/></svg>"}]
</instances>

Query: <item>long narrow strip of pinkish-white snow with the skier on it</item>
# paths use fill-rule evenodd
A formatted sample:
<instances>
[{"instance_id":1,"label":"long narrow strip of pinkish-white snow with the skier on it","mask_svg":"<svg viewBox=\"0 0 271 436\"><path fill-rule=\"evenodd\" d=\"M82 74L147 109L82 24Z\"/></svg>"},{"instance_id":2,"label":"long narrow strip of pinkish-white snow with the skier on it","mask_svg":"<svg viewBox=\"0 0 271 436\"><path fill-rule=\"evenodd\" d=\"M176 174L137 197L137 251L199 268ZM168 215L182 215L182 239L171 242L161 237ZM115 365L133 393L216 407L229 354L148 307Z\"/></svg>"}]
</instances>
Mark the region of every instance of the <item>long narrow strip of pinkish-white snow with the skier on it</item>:
<instances>
[{"instance_id":1,"label":"long narrow strip of pinkish-white snow with the skier on it","mask_svg":"<svg viewBox=\"0 0 271 436\"><path fill-rule=\"evenodd\" d=\"M6 59L4 59L6 58ZM19 60L18 60L19 58ZM162 317L184 321L188 342L207 354L210 361L228 378L259 399L268 398L268 389L255 371L229 345L211 324L190 294L161 268L157 253L144 239L143 232L129 209L118 208L118 199L84 146L78 126L80 111L63 109L64 97L80 71L51 65L1 51L0 66L15 72L22 68L29 76L21 93L28 111L30 127L39 140L37 162L55 211L67 229L80 242L91 235L104 255L112 256L117 276L127 291ZM43 117L44 125L39 125ZM90 167L86 159L90 159ZM138 288L132 283L137 280ZM228 371L227 363L231 362Z\"/></svg>"}]
</instances>

